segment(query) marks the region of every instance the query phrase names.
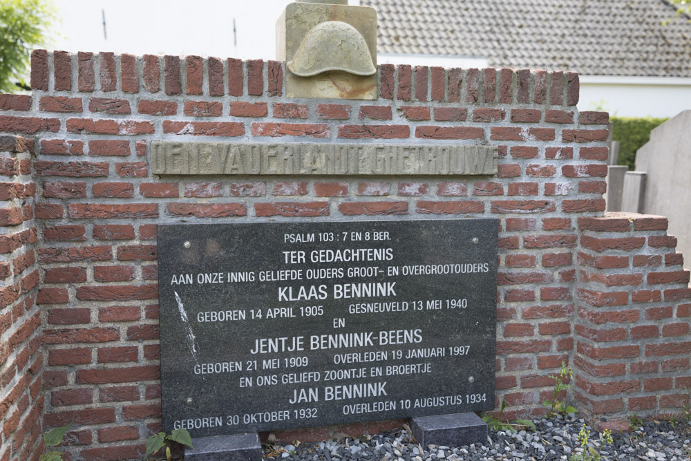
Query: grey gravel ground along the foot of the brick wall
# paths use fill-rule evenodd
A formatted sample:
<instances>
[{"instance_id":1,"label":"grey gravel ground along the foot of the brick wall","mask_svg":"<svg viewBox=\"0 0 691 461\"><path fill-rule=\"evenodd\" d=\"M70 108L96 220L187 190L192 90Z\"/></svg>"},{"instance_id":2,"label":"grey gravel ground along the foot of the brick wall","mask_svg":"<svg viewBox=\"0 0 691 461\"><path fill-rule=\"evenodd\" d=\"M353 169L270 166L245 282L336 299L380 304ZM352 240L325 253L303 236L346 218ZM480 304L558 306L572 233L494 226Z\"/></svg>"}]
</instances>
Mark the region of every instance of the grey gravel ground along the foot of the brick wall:
<instances>
[{"instance_id":1,"label":"grey gravel ground along the foot of the brick wall","mask_svg":"<svg viewBox=\"0 0 691 461\"><path fill-rule=\"evenodd\" d=\"M578 432L585 424L578 417L533 420L535 433L508 433L490 429L482 444L468 446L425 446L411 443L401 429L391 433L340 438L325 442L265 446L265 460L280 461L460 461L460 460L568 460L583 453ZM599 435L591 431L589 446L599 449ZM602 460L682 461L691 456L691 421L647 421L630 433L612 434L614 442L605 444ZM594 439L594 440L593 440Z\"/></svg>"}]
</instances>

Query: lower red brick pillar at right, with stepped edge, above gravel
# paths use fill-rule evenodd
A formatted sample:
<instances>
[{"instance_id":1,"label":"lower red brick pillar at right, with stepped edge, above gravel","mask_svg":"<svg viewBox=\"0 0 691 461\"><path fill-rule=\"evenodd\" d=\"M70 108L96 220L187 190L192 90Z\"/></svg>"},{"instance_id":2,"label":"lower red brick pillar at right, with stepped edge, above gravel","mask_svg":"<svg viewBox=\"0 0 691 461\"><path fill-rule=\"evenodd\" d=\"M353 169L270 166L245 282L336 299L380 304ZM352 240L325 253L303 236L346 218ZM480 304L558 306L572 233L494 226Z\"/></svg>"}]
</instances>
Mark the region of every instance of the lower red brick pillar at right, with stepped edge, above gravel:
<instances>
[{"instance_id":1,"label":"lower red brick pillar at right, with stepped edge, above gravel","mask_svg":"<svg viewBox=\"0 0 691 461\"><path fill-rule=\"evenodd\" d=\"M576 399L610 426L634 412L679 413L691 386L691 290L667 218L616 213L578 227Z\"/></svg>"}]
</instances>

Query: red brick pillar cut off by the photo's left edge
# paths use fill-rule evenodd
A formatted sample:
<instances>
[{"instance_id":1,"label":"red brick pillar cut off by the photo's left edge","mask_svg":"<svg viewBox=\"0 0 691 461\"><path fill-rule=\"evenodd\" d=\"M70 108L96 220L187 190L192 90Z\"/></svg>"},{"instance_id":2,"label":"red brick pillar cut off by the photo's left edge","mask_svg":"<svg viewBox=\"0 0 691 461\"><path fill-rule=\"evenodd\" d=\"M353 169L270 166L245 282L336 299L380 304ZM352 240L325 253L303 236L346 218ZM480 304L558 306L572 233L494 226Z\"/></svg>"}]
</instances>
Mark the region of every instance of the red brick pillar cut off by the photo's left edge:
<instances>
[{"instance_id":1,"label":"red brick pillar cut off by the photo's left edge","mask_svg":"<svg viewBox=\"0 0 691 461\"><path fill-rule=\"evenodd\" d=\"M14 97L17 100L17 97ZM34 245L32 142L0 136L0 460L37 459L42 449L41 312Z\"/></svg>"}]
</instances>

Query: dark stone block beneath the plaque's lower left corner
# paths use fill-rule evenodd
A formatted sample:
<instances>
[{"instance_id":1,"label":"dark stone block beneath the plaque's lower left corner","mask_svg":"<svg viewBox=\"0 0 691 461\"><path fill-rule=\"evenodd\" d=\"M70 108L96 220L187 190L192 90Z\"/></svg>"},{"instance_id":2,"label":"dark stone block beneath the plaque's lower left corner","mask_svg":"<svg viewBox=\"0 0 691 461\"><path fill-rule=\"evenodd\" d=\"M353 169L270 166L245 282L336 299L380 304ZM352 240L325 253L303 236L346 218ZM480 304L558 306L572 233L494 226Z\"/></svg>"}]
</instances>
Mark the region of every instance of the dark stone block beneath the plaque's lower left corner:
<instances>
[{"instance_id":1,"label":"dark stone block beneath the plaque's lower left corner","mask_svg":"<svg viewBox=\"0 0 691 461\"><path fill-rule=\"evenodd\" d=\"M192 439L184 447L185 461L261 461L259 434L218 435Z\"/></svg>"}]
</instances>

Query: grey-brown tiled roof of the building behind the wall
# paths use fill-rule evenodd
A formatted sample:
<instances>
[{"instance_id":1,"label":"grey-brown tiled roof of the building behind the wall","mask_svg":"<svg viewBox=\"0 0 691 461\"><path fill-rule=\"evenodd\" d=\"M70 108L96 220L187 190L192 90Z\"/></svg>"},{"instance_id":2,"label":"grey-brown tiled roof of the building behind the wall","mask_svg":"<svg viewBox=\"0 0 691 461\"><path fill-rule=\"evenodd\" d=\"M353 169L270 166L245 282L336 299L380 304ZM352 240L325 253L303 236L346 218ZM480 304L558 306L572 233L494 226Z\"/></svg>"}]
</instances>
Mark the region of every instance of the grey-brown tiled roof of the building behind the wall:
<instances>
[{"instance_id":1,"label":"grey-brown tiled roof of the building behind the wall","mask_svg":"<svg viewBox=\"0 0 691 461\"><path fill-rule=\"evenodd\" d=\"M582 75L691 77L691 23L686 16L676 18L665 0L361 0L361 5L377 9L379 53L486 57L496 68Z\"/></svg>"}]
</instances>

